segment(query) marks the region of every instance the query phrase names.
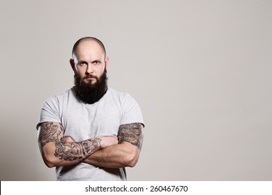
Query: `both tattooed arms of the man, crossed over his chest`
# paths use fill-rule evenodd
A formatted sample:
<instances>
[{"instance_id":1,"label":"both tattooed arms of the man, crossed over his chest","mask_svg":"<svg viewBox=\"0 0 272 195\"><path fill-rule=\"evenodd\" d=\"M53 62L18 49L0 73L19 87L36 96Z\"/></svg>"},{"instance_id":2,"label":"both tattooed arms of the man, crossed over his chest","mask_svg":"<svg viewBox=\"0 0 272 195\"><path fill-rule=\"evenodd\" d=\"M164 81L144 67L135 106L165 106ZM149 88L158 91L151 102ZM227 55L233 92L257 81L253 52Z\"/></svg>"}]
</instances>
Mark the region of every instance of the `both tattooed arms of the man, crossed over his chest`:
<instances>
[{"instance_id":1,"label":"both tattooed arms of the man, crossed over his chest","mask_svg":"<svg viewBox=\"0 0 272 195\"><path fill-rule=\"evenodd\" d=\"M68 166L85 162L103 167L135 166L142 147L142 124L130 123L119 127L118 137L95 137L75 142L63 137L60 123L42 123L38 143L48 167Z\"/></svg>"}]
</instances>

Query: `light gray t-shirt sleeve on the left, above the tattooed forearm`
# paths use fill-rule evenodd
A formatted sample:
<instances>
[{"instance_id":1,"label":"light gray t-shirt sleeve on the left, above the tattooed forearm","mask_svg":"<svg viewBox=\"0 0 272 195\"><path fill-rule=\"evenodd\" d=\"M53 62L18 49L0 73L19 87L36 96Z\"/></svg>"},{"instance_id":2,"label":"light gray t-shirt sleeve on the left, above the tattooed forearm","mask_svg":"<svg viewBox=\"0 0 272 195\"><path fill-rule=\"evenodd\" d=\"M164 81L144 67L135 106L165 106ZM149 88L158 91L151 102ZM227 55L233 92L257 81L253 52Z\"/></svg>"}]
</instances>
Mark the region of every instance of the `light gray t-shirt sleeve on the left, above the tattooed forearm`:
<instances>
[{"instance_id":1,"label":"light gray t-shirt sleeve on the left, above the tattooed forearm","mask_svg":"<svg viewBox=\"0 0 272 195\"><path fill-rule=\"evenodd\" d=\"M40 123L44 122L56 122L61 123L61 117L59 114L59 101L55 96L52 96L43 103L43 106L40 109L40 118L36 129L40 126Z\"/></svg>"}]
</instances>

